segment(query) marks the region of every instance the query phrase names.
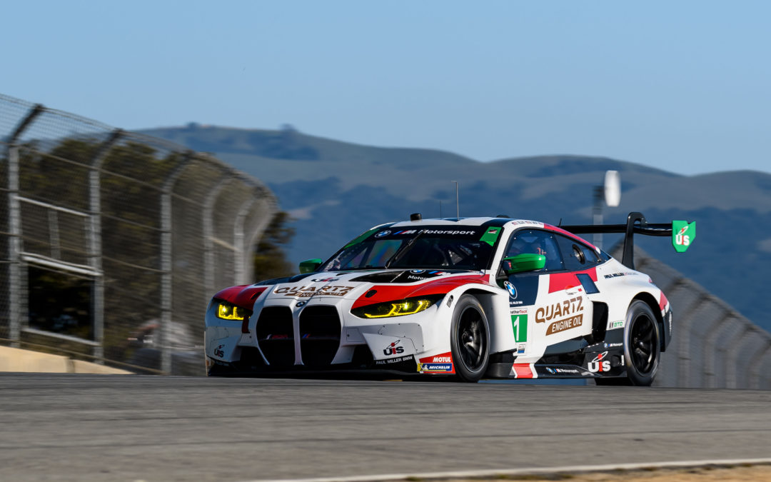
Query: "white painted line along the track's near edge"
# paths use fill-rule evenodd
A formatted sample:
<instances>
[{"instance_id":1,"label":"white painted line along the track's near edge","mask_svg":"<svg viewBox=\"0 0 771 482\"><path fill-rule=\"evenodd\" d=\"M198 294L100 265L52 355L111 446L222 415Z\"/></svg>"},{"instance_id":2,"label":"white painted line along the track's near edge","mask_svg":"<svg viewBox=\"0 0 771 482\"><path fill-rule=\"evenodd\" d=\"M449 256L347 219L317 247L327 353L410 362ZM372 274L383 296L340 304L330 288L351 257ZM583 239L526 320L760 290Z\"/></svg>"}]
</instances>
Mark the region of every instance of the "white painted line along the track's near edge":
<instances>
[{"instance_id":1,"label":"white painted line along the track's near edge","mask_svg":"<svg viewBox=\"0 0 771 482\"><path fill-rule=\"evenodd\" d=\"M637 470L646 467L699 467L703 465L740 465L742 463L771 463L766 459L680 460L675 462L609 463L607 465L566 465L563 467L530 467L526 469L458 470L455 472L424 472L419 474L352 475L346 477L315 477L309 479L253 479L241 482L381 482L411 479L460 479L495 477L497 475L557 474L571 472L607 472L609 470Z\"/></svg>"}]
</instances>

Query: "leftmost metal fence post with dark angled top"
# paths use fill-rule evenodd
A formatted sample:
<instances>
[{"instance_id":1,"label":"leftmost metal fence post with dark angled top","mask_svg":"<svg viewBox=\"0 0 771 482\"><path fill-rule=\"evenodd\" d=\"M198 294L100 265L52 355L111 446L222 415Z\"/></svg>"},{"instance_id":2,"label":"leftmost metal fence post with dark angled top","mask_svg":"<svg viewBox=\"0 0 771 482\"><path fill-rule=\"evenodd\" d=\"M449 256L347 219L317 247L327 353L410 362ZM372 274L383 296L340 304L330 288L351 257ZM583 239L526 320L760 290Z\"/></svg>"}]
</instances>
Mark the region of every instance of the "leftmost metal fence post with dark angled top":
<instances>
[{"instance_id":1,"label":"leftmost metal fence post with dark angled top","mask_svg":"<svg viewBox=\"0 0 771 482\"><path fill-rule=\"evenodd\" d=\"M22 206L19 203L19 140L24 130L45 110L35 104L8 137L8 338L19 348L22 338Z\"/></svg>"}]
</instances>

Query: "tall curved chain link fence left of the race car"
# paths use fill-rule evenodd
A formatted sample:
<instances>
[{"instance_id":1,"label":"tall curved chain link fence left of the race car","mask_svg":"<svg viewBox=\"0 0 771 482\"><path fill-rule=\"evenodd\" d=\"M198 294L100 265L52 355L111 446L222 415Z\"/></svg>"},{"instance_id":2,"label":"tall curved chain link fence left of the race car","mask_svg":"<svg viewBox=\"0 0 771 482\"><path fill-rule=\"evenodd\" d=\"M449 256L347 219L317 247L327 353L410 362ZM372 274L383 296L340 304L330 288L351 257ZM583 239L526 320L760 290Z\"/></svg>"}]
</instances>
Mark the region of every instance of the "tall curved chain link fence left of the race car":
<instances>
[{"instance_id":1,"label":"tall curved chain link fence left of the race car","mask_svg":"<svg viewBox=\"0 0 771 482\"><path fill-rule=\"evenodd\" d=\"M0 95L0 339L204 372L203 316L251 282L270 190L206 154Z\"/></svg>"}]
</instances>

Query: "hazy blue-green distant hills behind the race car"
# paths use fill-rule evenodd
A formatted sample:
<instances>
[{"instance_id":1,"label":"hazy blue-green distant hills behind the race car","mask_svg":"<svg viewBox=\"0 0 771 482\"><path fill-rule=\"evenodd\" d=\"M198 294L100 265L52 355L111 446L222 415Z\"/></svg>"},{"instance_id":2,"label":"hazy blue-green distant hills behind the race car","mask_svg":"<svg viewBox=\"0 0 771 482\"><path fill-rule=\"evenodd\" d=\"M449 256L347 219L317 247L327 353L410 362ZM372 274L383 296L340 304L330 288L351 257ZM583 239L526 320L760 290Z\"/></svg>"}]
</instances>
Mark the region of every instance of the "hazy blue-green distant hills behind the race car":
<instances>
[{"instance_id":1,"label":"hazy blue-green distant hills behind the race car","mask_svg":"<svg viewBox=\"0 0 771 482\"><path fill-rule=\"evenodd\" d=\"M653 222L699 221L698 238L675 254L665 238L638 237L672 265L771 331L771 297L759 293L771 267L771 175L729 171L681 176L604 157L557 155L480 163L441 150L369 147L297 130L242 130L189 124L143 130L215 153L260 178L295 217L294 261L325 258L357 234L412 212L507 214L557 224L591 222L592 188L608 169L621 172L621 206L604 211L621 223L629 211ZM516 150L516 147L512 147ZM728 166L729 167L729 166ZM605 248L618 237L605 237ZM676 309L677 307L675 307Z\"/></svg>"}]
</instances>

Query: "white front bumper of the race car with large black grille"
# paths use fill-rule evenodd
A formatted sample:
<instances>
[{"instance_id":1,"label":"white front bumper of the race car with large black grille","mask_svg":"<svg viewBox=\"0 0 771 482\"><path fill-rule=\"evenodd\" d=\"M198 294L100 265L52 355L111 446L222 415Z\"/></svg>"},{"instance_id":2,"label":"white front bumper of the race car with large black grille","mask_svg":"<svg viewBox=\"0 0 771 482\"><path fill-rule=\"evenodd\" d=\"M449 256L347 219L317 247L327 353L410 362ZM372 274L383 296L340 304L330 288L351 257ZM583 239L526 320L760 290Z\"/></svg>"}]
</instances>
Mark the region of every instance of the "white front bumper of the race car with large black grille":
<instances>
[{"instance_id":1,"label":"white front bumper of the race car with large black grille","mask_svg":"<svg viewBox=\"0 0 771 482\"><path fill-rule=\"evenodd\" d=\"M419 355L449 352L449 331L437 321L436 306L414 315L369 320L352 315L348 300L322 298L298 304L287 300L255 306L246 332L241 322L217 319L216 303L210 305L204 335L207 369L254 373L374 369L417 374Z\"/></svg>"}]
</instances>

